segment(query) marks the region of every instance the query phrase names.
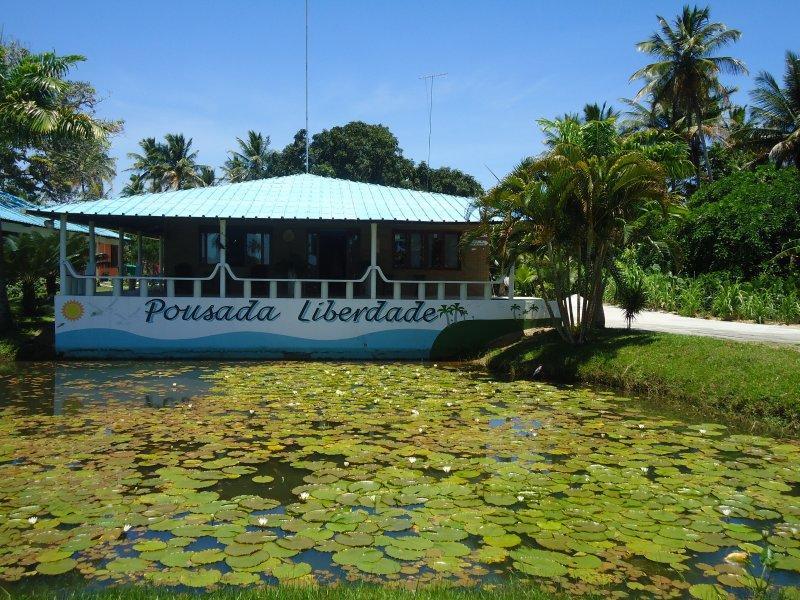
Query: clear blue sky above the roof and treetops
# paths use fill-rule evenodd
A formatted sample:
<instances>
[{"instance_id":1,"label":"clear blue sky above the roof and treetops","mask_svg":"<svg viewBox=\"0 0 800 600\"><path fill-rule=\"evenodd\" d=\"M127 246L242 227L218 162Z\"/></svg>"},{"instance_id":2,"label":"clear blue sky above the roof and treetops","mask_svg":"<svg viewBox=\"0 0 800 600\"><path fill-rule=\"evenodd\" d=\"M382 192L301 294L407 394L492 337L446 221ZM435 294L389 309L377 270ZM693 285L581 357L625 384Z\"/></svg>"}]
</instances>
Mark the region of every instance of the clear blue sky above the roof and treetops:
<instances>
[{"instance_id":1,"label":"clear blue sky above the roof and treetops","mask_svg":"<svg viewBox=\"0 0 800 600\"><path fill-rule=\"evenodd\" d=\"M218 167L256 129L280 149L304 125L303 2L3 1L6 39L86 56L74 78L125 121L113 143L119 191L126 155L146 136L182 132ZM485 185L541 150L535 120L637 91L634 45L680 2L630 0L311 0L312 133L360 119L387 125L406 156L427 156L426 73L438 80L431 163ZM717 1L715 20L743 32L729 53L751 77L776 76L800 51L800 2ZM729 78L746 101L751 77Z\"/></svg>"}]
</instances>

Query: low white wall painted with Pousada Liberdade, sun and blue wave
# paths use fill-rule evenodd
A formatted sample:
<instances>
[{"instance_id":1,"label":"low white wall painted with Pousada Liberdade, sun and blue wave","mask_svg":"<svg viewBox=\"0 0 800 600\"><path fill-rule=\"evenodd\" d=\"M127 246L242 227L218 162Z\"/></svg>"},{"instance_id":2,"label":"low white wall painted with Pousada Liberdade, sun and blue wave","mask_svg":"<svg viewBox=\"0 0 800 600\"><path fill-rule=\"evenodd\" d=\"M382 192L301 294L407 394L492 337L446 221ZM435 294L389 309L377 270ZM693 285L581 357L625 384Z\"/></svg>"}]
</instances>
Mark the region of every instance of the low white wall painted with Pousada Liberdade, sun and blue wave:
<instances>
[{"instance_id":1,"label":"low white wall painted with Pousada Liberdade, sun and blue wave","mask_svg":"<svg viewBox=\"0 0 800 600\"><path fill-rule=\"evenodd\" d=\"M56 314L62 356L444 359L479 352L547 310L519 298L58 297Z\"/></svg>"}]
</instances>

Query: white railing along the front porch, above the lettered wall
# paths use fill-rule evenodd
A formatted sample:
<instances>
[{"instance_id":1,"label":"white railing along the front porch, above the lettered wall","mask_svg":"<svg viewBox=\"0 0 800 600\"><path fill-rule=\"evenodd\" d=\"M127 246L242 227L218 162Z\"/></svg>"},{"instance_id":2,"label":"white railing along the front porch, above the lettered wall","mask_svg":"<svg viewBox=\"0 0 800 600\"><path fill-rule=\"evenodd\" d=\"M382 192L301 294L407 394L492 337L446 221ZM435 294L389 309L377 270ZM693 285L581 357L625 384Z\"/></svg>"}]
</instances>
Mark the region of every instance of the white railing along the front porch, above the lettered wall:
<instances>
[{"instance_id":1,"label":"white railing along the front porch, above the lettered wall","mask_svg":"<svg viewBox=\"0 0 800 600\"><path fill-rule=\"evenodd\" d=\"M379 266L370 266L364 271L364 274L358 279L311 279L311 278L281 278L281 277L240 277L236 275L230 268L230 265L215 265L211 273L205 277L163 277L160 275L81 275L75 271L73 265L65 262L67 281L61 292L63 295L77 295L77 296L94 296L94 295L108 295L109 292L99 292L98 284L101 281L110 281L112 296L123 295L138 295L143 298L147 297L175 297L176 283L191 282L192 293L191 297L203 297L203 282L212 281L219 278L220 288L217 293L213 293L212 297L231 297L226 294L226 286L223 285L223 276L226 276L231 281L242 284L242 296L245 299L253 297L253 284L265 284L266 295L259 296L264 298L278 298L278 286L285 284L288 287L289 298L319 298L326 300L331 297L331 286L344 286L344 298L347 300L353 299L355 295L355 288L357 285L366 284L369 282L369 289L367 289L365 296L368 298L383 298L377 292L377 281L380 279L385 284L391 286L391 294L386 299L400 300L403 298L403 292L408 291L409 288L413 293L407 297L412 297L417 300L444 300L448 297L458 298L460 300L468 300L470 298L490 299L494 297L494 286L502 284L502 280L489 280L489 281L459 281L459 280L418 280L418 279L389 279L384 274ZM125 282L129 283L128 293L125 293ZM133 282L131 284L131 282ZM319 292L309 295L304 290L304 285L319 286ZM431 288L435 290L429 293ZM452 293L455 290L456 293ZM475 290L480 290L479 293L474 293ZM448 296L448 291L450 294ZM234 297L238 297L238 294ZM504 295L503 297L513 297L511 295Z\"/></svg>"}]
</instances>

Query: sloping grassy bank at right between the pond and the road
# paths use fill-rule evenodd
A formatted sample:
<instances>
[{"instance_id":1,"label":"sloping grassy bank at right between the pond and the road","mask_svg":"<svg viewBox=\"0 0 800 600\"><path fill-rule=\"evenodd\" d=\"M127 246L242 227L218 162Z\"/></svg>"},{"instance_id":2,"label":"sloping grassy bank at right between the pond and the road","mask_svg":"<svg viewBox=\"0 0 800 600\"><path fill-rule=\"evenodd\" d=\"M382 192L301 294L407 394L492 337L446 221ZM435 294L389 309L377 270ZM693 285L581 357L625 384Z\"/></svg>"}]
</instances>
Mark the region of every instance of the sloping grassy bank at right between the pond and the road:
<instances>
[{"instance_id":1,"label":"sloping grassy bank at right between the pond and the road","mask_svg":"<svg viewBox=\"0 0 800 600\"><path fill-rule=\"evenodd\" d=\"M642 394L760 428L800 431L800 351L666 333L607 330L580 347L542 332L490 353L488 368L517 378L585 382Z\"/></svg>"}]
</instances>

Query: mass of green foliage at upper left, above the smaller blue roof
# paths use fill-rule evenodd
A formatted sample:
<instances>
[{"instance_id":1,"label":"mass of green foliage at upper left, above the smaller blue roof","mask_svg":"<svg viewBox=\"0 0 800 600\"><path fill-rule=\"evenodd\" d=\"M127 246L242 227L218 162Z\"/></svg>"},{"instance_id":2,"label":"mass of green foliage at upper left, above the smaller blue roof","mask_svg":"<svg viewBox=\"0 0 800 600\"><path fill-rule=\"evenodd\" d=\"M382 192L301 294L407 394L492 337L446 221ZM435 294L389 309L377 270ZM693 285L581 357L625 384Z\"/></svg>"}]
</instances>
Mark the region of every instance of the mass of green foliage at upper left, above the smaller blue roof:
<instances>
[{"instance_id":1,"label":"mass of green foliage at upper left, above the smaller blue roof","mask_svg":"<svg viewBox=\"0 0 800 600\"><path fill-rule=\"evenodd\" d=\"M61 201L104 194L121 122L97 118L95 90L66 78L83 60L0 43L0 189Z\"/></svg>"}]
</instances>

